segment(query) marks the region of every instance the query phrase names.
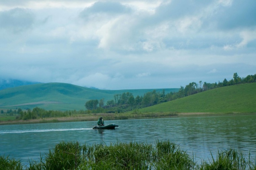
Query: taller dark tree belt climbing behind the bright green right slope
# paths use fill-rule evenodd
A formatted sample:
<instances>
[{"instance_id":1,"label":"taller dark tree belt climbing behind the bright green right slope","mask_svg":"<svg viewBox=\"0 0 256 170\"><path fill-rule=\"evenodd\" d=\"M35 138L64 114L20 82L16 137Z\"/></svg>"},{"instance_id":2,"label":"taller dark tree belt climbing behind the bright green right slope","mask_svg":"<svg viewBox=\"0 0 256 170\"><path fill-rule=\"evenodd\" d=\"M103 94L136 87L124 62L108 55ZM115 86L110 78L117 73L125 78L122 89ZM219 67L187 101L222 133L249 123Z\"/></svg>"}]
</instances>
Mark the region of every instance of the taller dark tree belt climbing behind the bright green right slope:
<instances>
[{"instance_id":1,"label":"taller dark tree belt climbing behind the bright green right slope","mask_svg":"<svg viewBox=\"0 0 256 170\"><path fill-rule=\"evenodd\" d=\"M252 82L256 82L256 74L241 78L237 73L234 73L231 80L227 80L225 78L222 82L219 81L218 83L202 83L202 81L199 81L198 83L191 82L185 87L181 86L178 92L170 92L167 94L164 89L162 92L153 90L152 92L145 93L143 96L136 97L134 97L132 93L126 92L123 94L115 94L113 99L106 101L106 105L104 104L104 99L96 99L87 101L85 103L85 107L87 110L94 113L125 112L133 109L153 106L211 89Z\"/></svg>"}]
</instances>

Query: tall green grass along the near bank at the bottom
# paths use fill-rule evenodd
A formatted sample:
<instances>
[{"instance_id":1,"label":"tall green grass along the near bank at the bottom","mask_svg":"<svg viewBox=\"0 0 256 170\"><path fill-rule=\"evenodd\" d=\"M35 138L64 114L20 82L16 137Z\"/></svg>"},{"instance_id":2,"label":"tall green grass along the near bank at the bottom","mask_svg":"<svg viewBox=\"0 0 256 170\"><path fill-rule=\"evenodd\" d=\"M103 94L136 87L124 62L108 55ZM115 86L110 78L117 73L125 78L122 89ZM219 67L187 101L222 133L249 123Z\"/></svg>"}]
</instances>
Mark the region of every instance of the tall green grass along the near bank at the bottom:
<instances>
[{"instance_id":1,"label":"tall green grass along the near bank at the bottom","mask_svg":"<svg viewBox=\"0 0 256 170\"><path fill-rule=\"evenodd\" d=\"M39 162L21 161L0 156L0 169L48 170L48 169L139 169L139 170L255 170L255 158L251 159L230 148L218 151L217 158L197 164L192 158L170 141L153 143L110 143L80 145L78 142L60 142L41 157Z\"/></svg>"}]
</instances>

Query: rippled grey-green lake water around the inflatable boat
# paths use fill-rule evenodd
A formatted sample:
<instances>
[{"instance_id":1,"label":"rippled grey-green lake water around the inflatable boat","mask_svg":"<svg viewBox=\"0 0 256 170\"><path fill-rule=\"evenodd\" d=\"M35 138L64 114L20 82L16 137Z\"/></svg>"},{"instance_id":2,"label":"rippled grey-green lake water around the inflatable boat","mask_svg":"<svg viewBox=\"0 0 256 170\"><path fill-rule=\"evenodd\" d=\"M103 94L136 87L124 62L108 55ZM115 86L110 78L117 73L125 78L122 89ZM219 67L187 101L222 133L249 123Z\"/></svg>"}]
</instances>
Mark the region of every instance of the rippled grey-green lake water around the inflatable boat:
<instances>
[{"instance_id":1,"label":"rippled grey-green lake water around the inflatable boat","mask_svg":"<svg viewBox=\"0 0 256 170\"><path fill-rule=\"evenodd\" d=\"M103 117L104 118L104 117ZM186 150L191 158L216 159L218 149L230 147L253 158L256 156L256 114L157 118L141 120L104 120L119 125L115 130L94 130L93 122L47 123L0 126L0 155L18 158L23 164L39 160L60 141L82 144L104 142L155 143L169 140Z\"/></svg>"}]
</instances>

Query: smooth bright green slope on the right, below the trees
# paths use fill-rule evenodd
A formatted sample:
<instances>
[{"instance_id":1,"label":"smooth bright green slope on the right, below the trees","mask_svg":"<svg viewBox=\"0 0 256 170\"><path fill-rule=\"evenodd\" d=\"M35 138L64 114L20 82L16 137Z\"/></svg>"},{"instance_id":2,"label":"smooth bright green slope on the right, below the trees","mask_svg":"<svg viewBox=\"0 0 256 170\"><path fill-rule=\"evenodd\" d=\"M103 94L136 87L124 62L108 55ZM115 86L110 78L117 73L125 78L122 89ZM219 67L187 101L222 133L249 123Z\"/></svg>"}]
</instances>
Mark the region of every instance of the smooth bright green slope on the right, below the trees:
<instances>
[{"instance_id":1,"label":"smooth bright green slope on the right, below the trees","mask_svg":"<svg viewBox=\"0 0 256 170\"><path fill-rule=\"evenodd\" d=\"M139 109L143 112L256 113L256 83L217 88Z\"/></svg>"}]
</instances>

